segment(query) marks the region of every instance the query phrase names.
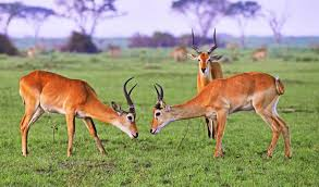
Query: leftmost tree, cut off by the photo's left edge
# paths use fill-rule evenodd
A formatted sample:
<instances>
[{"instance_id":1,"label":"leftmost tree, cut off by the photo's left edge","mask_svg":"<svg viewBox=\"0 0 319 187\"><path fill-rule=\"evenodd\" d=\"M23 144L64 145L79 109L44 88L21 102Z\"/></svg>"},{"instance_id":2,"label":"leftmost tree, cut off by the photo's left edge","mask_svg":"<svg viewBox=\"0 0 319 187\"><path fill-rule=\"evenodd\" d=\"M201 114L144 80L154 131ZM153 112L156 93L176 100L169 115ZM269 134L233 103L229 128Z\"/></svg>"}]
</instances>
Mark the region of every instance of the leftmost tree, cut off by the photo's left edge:
<instances>
[{"instance_id":1,"label":"leftmost tree, cut off by the photo's left edge","mask_svg":"<svg viewBox=\"0 0 319 187\"><path fill-rule=\"evenodd\" d=\"M10 23L14 18L21 17L22 9L24 9L24 5L21 2L0 3L0 22L1 27L3 27L4 35L8 35L8 28Z\"/></svg>"}]
</instances>

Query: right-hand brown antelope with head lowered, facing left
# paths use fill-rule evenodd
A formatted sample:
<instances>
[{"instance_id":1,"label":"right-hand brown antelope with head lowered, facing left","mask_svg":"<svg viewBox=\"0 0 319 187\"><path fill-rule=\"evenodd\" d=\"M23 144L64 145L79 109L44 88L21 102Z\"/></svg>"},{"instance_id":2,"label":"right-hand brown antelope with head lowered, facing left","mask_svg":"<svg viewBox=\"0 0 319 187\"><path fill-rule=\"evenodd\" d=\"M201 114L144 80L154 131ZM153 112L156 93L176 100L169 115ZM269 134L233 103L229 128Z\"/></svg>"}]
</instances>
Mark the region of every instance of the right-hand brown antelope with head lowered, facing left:
<instances>
[{"instance_id":1,"label":"right-hand brown antelope with head lowered, facing left","mask_svg":"<svg viewBox=\"0 0 319 187\"><path fill-rule=\"evenodd\" d=\"M193 99L176 105L168 105L163 100L163 89L157 84L158 101L154 108L151 134L159 133L169 123L206 116L217 120L214 157L223 155L221 141L228 115L240 112L255 112L266 121L272 129L272 140L267 155L272 157L280 134L283 135L285 157L291 158L290 132L286 123L277 113L279 97L284 94L284 86L279 78L265 73L243 73L229 78L212 80Z\"/></svg>"}]
</instances>

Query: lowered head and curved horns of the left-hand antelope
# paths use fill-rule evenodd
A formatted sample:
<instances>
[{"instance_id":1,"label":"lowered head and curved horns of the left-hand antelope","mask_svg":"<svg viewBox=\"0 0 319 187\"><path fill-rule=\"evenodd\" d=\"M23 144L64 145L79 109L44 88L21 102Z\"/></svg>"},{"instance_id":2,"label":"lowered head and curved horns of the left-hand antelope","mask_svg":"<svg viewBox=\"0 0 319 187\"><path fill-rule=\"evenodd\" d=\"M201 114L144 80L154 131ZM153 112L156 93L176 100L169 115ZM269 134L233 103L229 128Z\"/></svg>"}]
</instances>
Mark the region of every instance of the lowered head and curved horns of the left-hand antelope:
<instances>
[{"instance_id":1,"label":"lowered head and curved horns of the left-hand antelope","mask_svg":"<svg viewBox=\"0 0 319 187\"><path fill-rule=\"evenodd\" d=\"M122 132L126 133L131 138L137 138L138 130L135 124L136 112L134 103L131 98L131 94L137 84L135 84L127 92L126 85L131 79L133 79L133 77L128 78L123 85L123 92L128 105L128 111L122 110L121 105L115 103L114 101L111 102L111 105L119 115L116 123L114 123L114 125Z\"/></svg>"}]
</instances>

